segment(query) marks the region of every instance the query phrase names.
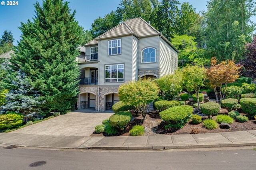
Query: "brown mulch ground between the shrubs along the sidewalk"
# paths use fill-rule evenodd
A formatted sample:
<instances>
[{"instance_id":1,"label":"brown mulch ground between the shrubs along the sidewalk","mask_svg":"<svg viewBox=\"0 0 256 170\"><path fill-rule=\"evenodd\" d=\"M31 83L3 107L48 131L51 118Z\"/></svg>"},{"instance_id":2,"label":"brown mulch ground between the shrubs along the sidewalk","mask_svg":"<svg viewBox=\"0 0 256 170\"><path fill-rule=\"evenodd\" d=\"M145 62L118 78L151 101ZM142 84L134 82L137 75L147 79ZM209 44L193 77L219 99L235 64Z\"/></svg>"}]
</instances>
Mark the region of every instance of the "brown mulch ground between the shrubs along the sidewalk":
<instances>
[{"instance_id":1,"label":"brown mulch ground between the shrubs along the sidewalk","mask_svg":"<svg viewBox=\"0 0 256 170\"><path fill-rule=\"evenodd\" d=\"M225 109L220 110L221 114L227 113ZM241 114L244 115L244 114ZM207 119L207 117L202 117L202 120ZM213 117L215 119L215 117ZM192 124L192 120L190 120L183 128L180 129L168 129L166 130L164 128L164 123L160 119L160 116L158 113L148 113L147 119L143 122L142 116L135 117L135 120L129 124L127 129L124 132L120 132L114 136L130 136L129 130L134 125L142 125L146 126L149 130L149 132L144 133L144 136L153 136L153 135L165 135L165 134L191 134L191 130L193 128L197 128L199 130L199 133L214 133L214 132L232 132L232 131L241 131L241 130L256 130L256 121L251 120L245 123L239 123L234 121L233 124L231 124L230 129L222 129L218 127L217 129L208 130L203 127L203 124L200 123L198 125ZM90 136L108 136L106 134L96 134L95 132L91 134Z\"/></svg>"}]
</instances>

